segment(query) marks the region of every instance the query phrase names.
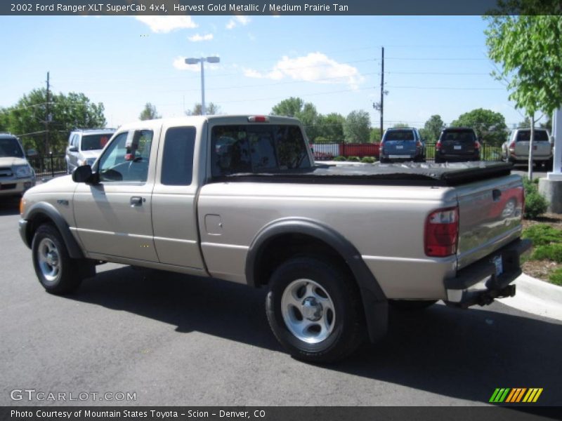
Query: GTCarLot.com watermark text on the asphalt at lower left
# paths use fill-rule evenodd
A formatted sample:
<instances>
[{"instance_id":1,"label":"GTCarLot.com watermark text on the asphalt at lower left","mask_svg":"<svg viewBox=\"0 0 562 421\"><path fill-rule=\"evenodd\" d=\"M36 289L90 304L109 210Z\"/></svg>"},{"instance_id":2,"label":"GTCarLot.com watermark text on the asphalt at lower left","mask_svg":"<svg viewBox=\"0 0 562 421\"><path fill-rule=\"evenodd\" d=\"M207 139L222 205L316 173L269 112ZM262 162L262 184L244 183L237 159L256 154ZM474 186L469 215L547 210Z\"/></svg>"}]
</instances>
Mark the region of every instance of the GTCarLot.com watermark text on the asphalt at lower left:
<instances>
[{"instance_id":1,"label":"GTCarLot.com watermark text on the asphalt at lower left","mask_svg":"<svg viewBox=\"0 0 562 421\"><path fill-rule=\"evenodd\" d=\"M13 389L10 392L12 401L28 402L77 402L77 401L136 401L136 392L46 392L37 389Z\"/></svg>"}]
</instances>

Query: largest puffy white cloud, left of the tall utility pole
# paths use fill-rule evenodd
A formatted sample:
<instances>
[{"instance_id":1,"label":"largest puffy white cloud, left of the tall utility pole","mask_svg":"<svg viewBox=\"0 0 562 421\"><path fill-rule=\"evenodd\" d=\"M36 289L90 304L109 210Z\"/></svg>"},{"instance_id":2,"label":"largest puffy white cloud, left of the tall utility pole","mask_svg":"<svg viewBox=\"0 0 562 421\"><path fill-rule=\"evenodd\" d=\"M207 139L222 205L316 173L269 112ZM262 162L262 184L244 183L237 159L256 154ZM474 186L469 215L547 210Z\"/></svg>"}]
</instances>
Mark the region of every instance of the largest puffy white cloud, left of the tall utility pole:
<instances>
[{"instance_id":1,"label":"largest puffy white cloud, left of the tall utility pole","mask_svg":"<svg viewBox=\"0 0 562 421\"><path fill-rule=\"evenodd\" d=\"M358 88L359 83L365 80L356 67L336 62L322 53L308 53L297 58L285 55L269 72L244 69L244 76L273 80L288 77L296 81L315 83L347 83L353 89Z\"/></svg>"}]
</instances>

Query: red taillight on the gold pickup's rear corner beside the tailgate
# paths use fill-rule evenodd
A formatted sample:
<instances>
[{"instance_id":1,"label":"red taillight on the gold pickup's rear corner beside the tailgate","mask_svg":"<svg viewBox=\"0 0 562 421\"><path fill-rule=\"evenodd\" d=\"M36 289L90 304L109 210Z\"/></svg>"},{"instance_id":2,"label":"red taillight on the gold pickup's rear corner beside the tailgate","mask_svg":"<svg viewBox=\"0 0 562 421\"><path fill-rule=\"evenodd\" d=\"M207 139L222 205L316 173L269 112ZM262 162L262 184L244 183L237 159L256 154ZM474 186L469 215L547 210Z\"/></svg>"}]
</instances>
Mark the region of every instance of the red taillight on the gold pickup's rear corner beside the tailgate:
<instances>
[{"instance_id":1,"label":"red taillight on the gold pickup's rear corner beside the tailgate","mask_svg":"<svg viewBox=\"0 0 562 421\"><path fill-rule=\"evenodd\" d=\"M457 253L459 236L459 208L443 208L430 213L426 219L425 251L434 258Z\"/></svg>"}]
</instances>

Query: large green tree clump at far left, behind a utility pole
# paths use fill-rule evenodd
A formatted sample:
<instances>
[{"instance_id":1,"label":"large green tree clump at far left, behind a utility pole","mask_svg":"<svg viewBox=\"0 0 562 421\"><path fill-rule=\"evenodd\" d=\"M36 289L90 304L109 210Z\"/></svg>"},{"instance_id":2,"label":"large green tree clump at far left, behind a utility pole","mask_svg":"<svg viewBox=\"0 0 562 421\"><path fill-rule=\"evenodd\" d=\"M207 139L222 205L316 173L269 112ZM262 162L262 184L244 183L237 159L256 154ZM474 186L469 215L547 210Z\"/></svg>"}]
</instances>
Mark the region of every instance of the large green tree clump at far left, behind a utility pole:
<instances>
[{"instance_id":1,"label":"large green tree clump at far left, behind a utility pole","mask_svg":"<svg viewBox=\"0 0 562 421\"><path fill-rule=\"evenodd\" d=\"M0 109L0 130L18 135L25 149L45 154L63 152L68 132L74 128L105 127L101 102L96 104L84 93L70 92L50 93L47 104L46 94L45 88L34 89L12 107Z\"/></svg>"}]
</instances>

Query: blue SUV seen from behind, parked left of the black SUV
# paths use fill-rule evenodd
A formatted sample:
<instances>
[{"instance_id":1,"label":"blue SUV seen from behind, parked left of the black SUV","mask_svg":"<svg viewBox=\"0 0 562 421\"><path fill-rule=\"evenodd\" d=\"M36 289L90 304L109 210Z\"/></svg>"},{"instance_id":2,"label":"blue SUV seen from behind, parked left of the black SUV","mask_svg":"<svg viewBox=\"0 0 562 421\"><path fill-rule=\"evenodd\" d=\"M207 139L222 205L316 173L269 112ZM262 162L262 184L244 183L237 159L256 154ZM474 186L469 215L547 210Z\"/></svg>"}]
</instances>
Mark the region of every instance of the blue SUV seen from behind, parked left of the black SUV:
<instances>
[{"instance_id":1,"label":"blue SUV seen from behind, parked left of the black SUV","mask_svg":"<svg viewBox=\"0 0 562 421\"><path fill-rule=\"evenodd\" d=\"M417 128L388 128L379 146L381 163L426 161L426 147Z\"/></svg>"}]
</instances>

